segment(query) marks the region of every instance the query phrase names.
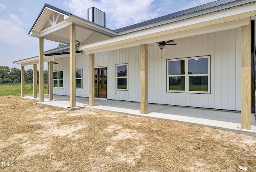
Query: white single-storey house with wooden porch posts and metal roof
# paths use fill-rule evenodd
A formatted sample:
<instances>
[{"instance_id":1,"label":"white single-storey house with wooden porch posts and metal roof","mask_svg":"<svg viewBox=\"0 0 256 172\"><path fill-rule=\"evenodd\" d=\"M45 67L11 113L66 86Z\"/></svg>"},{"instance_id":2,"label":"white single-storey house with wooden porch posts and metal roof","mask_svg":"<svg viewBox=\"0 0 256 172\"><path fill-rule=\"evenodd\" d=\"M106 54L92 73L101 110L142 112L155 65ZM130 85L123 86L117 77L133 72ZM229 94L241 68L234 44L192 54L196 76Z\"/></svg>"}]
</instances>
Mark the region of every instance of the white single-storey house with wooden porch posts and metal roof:
<instances>
[{"instance_id":1,"label":"white single-storey house with wooden porch posts and metal roof","mask_svg":"<svg viewBox=\"0 0 256 172\"><path fill-rule=\"evenodd\" d=\"M256 1L218 0L127 26L105 27L105 13L88 9L88 20L45 4L29 31L39 56L14 62L39 64L39 101L44 101L43 63L48 62L49 100L54 94L241 111L250 129L255 112ZM47 52L44 39L68 44ZM34 72L36 73L36 72ZM36 76L34 76L36 81ZM36 98L34 82L34 97Z\"/></svg>"}]
</instances>

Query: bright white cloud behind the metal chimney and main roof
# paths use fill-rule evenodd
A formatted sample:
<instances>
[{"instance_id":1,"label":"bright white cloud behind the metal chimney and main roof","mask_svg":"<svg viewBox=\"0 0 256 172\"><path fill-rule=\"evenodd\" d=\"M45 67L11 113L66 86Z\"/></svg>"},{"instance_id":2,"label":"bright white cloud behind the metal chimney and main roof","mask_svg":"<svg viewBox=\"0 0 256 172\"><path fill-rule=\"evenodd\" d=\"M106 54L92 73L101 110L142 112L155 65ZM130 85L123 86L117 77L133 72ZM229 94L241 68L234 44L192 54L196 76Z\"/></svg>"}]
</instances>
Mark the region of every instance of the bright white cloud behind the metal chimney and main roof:
<instances>
[{"instance_id":1,"label":"bright white cloud behind the metal chimney and main roof","mask_svg":"<svg viewBox=\"0 0 256 172\"><path fill-rule=\"evenodd\" d=\"M106 27L116 29L157 17L156 12L151 12L152 2L153 0L71 0L68 7L74 15L87 19L87 9L94 6L106 13Z\"/></svg>"}]
</instances>

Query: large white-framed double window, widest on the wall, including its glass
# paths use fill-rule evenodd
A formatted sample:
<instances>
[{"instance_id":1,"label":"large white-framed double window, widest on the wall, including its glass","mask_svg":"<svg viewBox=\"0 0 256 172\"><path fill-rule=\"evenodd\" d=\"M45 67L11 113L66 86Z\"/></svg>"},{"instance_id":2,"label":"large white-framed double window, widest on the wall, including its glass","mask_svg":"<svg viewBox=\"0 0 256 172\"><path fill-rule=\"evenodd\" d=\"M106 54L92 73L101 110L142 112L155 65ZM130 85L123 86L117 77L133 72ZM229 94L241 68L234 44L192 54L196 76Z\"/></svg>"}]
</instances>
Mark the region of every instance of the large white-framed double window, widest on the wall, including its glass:
<instances>
[{"instance_id":1,"label":"large white-framed double window, widest on the wall, including its glass","mask_svg":"<svg viewBox=\"0 0 256 172\"><path fill-rule=\"evenodd\" d=\"M167 92L210 93L210 56L167 60Z\"/></svg>"}]
</instances>

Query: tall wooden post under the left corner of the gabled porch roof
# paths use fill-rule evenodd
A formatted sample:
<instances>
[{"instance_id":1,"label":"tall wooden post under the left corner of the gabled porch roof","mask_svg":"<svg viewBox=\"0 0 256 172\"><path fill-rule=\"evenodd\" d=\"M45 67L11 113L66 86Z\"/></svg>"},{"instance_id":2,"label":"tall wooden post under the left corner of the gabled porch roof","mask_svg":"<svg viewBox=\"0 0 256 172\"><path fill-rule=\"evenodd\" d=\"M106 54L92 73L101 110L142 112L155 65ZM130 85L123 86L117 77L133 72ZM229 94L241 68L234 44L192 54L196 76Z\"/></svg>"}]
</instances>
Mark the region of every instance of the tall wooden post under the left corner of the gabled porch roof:
<instances>
[{"instance_id":1,"label":"tall wooden post under the left corner of the gabled porch roof","mask_svg":"<svg viewBox=\"0 0 256 172\"><path fill-rule=\"evenodd\" d=\"M44 102L44 37L39 37L39 102Z\"/></svg>"}]
</instances>

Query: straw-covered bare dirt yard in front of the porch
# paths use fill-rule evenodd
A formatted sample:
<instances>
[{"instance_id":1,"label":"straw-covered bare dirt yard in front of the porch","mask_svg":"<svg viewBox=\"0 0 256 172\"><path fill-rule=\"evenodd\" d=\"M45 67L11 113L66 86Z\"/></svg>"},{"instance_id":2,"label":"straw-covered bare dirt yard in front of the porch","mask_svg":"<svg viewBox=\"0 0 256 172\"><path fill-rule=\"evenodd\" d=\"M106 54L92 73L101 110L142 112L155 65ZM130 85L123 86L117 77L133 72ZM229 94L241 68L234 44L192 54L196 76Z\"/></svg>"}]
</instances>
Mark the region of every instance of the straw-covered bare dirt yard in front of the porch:
<instances>
[{"instance_id":1,"label":"straw-covered bare dirt yard in front of the porch","mask_svg":"<svg viewBox=\"0 0 256 172\"><path fill-rule=\"evenodd\" d=\"M1 172L256 171L256 137L0 97Z\"/></svg>"}]
</instances>

